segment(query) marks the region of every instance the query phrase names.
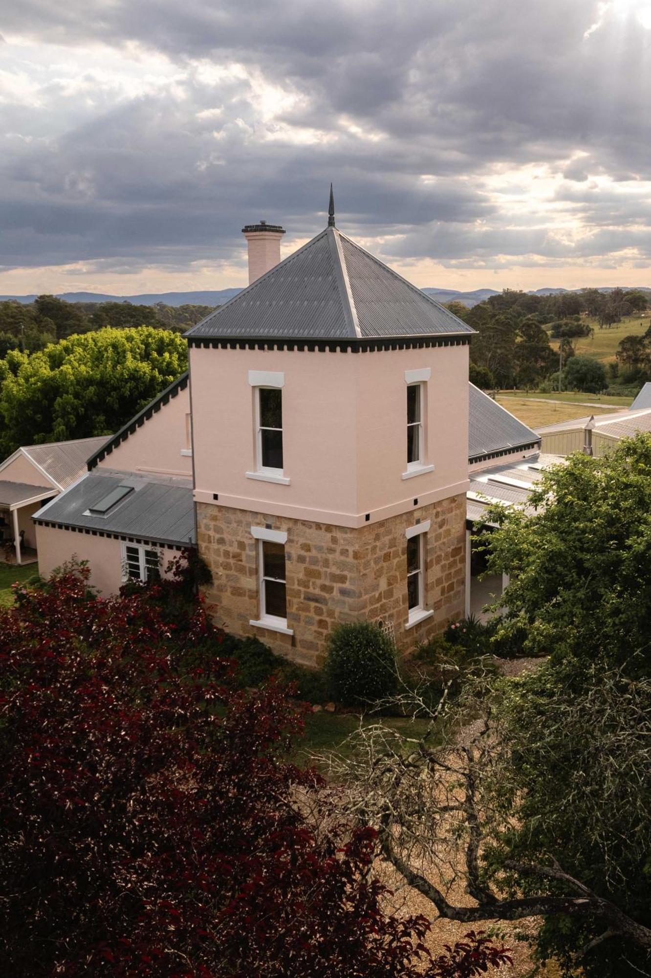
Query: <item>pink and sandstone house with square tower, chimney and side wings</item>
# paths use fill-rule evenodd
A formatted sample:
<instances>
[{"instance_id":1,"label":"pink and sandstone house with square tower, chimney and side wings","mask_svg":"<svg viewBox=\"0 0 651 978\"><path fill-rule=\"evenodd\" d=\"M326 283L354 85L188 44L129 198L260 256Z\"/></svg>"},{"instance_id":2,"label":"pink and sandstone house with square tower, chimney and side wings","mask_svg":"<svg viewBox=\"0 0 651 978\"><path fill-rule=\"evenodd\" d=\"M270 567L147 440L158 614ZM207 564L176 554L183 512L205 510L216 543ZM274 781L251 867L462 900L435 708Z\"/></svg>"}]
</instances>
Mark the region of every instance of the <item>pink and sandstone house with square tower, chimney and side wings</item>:
<instances>
[{"instance_id":1,"label":"pink and sandstone house with square tower, chimney and side wings","mask_svg":"<svg viewBox=\"0 0 651 978\"><path fill-rule=\"evenodd\" d=\"M283 261L282 228L243 229L251 284L187 334L189 374L35 514L41 573L75 553L109 593L195 542L215 619L307 663L337 622L407 648L464 613L469 467L539 439L469 398L472 330L330 210Z\"/></svg>"}]
</instances>

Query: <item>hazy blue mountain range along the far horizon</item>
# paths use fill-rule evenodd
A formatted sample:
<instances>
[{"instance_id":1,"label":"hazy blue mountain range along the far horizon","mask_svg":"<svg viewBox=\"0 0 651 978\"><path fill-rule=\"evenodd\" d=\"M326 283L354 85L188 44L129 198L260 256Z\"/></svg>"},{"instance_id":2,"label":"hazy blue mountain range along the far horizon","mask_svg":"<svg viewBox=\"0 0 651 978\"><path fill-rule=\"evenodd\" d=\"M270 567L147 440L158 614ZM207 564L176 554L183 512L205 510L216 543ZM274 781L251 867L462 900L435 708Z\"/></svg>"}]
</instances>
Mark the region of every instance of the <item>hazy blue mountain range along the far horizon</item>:
<instances>
[{"instance_id":1,"label":"hazy blue mountain range along the far horizon","mask_svg":"<svg viewBox=\"0 0 651 978\"><path fill-rule=\"evenodd\" d=\"M600 292L611 292L614 286L603 286L599 289ZM627 287L622 287L625 289ZM645 289L642 287L630 287L639 288L640 291L649 292L651 294L651 289ZM477 305L478 302L483 302L484 299L489 298L491 295L499 295L499 289L474 289L470 292L460 292L457 289L422 289L428 295L431 295L433 299L437 302L452 302L453 300L457 302L462 302L463 305L471 307ZM165 305L180 306L180 305L223 305L232 299L234 295L237 295L241 289L217 289L215 291L203 291L203 292L151 292L144 293L142 295L105 295L102 292L61 292L59 293L59 298L65 299L66 302L132 302L134 305L154 305L156 302L163 302ZM560 292L579 292L581 289L530 289L530 294L532 295L557 295ZM36 295L0 295L0 301L5 301L6 299L17 299L19 302L33 302Z\"/></svg>"}]
</instances>

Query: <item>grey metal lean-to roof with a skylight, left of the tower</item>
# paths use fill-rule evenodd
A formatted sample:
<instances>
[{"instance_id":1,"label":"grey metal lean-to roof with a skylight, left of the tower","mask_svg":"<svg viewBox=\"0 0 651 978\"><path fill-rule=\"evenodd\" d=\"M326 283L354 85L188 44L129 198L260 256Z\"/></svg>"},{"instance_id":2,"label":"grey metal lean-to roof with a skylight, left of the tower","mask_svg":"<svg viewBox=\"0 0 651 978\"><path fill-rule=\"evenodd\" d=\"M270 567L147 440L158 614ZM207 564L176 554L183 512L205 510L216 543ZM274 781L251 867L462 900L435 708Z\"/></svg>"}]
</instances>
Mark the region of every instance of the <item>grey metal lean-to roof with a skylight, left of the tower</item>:
<instances>
[{"instance_id":1,"label":"grey metal lean-to roof with a skylight, left of the tower","mask_svg":"<svg viewBox=\"0 0 651 978\"><path fill-rule=\"evenodd\" d=\"M106 515L89 510L118 486L133 486ZM80 479L67 492L34 513L34 520L156 543L184 545L195 542L192 479L141 476L133 472L98 469Z\"/></svg>"}]
</instances>

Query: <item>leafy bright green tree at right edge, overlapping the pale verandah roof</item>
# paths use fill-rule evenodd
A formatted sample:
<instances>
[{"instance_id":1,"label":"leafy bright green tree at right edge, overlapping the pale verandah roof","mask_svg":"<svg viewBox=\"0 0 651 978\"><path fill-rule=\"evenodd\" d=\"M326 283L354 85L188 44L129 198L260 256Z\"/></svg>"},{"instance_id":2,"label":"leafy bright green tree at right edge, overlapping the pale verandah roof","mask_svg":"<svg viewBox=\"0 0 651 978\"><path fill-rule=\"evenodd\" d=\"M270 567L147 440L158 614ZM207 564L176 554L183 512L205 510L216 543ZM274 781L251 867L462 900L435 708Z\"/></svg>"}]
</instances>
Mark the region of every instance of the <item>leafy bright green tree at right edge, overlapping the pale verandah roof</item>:
<instances>
[{"instance_id":1,"label":"leafy bright green tree at right edge, overlapping the pale verandah roof","mask_svg":"<svg viewBox=\"0 0 651 978\"><path fill-rule=\"evenodd\" d=\"M569 456L542 473L529 503L493 513L488 571L510 578L499 634L521 632L527 652L560 660L645 649L651 675L651 435L603 458Z\"/></svg>"}]
</instances>

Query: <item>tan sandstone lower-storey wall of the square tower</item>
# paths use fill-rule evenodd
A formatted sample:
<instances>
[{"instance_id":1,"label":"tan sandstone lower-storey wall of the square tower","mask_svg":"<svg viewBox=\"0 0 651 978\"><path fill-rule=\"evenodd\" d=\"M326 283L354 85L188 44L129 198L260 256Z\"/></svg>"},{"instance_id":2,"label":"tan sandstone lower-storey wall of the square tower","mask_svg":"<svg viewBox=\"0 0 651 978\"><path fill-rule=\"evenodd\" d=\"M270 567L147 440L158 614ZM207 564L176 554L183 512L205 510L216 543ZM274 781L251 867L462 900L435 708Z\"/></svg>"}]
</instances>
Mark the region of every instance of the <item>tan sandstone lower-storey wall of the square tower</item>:
<instances>
[{"instance_id":1,"label":"tan sandstone lower-storey wall of the square tower","mask_svg":"<svg viewBox=\"0 0 651 978\"><path fill-rule=\"evenodd\" d=\"M424 603L434 614L406 629L405 530L427 519ZM256 635L297 661L318 664L337 622L381 619L393 627L398 648L407 651L463 615L464 494L360 528L206 503L197 503L197 523L199 553L214 577L205 598L215 622L235 635ZM259 617L258 550L251 526L287 533L287 627L293 636L249 624Z\"/></svg>"}]
</instances>

